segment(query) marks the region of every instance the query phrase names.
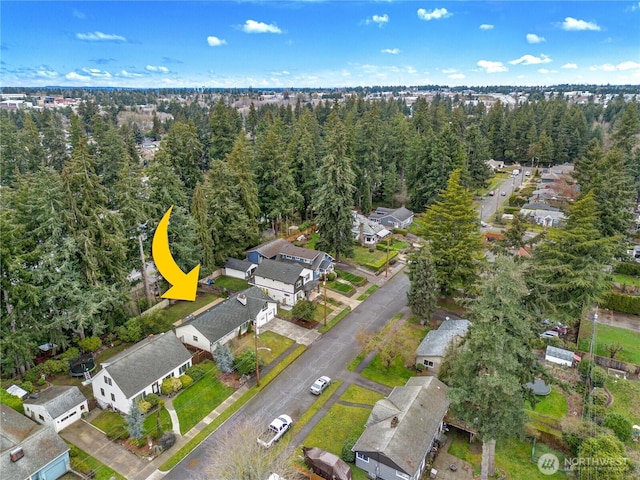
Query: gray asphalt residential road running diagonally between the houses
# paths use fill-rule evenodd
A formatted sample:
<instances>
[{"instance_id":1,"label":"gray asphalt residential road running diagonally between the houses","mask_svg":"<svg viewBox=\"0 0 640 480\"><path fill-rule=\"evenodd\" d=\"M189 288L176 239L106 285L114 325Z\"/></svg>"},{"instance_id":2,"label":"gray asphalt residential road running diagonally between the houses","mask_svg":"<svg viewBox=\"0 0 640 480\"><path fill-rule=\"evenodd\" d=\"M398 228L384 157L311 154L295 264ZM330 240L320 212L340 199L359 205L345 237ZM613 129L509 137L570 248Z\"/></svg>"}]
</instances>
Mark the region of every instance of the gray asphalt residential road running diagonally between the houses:
<instances>
[{"instance_id":1,"label":"gray asphalt residential road running diagonally between the houses","mask_svg":"<svg viewBox=\"0 0 640 480\"><path fill-rule=\"evenodd\" d=\"M379 330L407 305L409 279L399 271L362 302L338 325L320 337L261 393L253 397L216 432L185 457L166 479L201 479L207 476L207 458L212 455L216 438L233 429L239 419L250 418L265 426L286 413L295 422L316 399L309 386L320 375L346 377L346 366L359 353L355 337L360 328Z\"/></svg>"}]
</instances>

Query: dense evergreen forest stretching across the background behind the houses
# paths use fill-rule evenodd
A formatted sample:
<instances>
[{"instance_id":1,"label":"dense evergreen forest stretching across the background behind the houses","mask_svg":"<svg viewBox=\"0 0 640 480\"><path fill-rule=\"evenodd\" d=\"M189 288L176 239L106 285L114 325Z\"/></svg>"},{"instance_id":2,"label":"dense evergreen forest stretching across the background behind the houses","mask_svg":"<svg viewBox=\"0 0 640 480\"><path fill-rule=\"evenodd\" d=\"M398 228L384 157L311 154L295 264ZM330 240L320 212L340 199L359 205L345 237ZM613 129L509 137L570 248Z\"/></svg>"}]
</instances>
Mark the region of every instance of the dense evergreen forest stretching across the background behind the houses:
<instances>
[{"instance_id":1,"label":"dense evergreen forest stretching across the background behind the houses","mask_svg":"<svg viewBox=\"0 0 640 480\"><path fill-rule=\"evenodd\" d=\"M408 106L360 94L314 103L293 91L242 111L233 104L242 92L183 94L75 91L76 108L0 111L4 373L28 367L41 343L65 348L123 324L139 242L149 257L172 205L173 256L208 275L243 258L265 229L331 219L329 208L425 212L454 171L480 194L490 158L574 163L607 236L628 235L640 199L639 105L622 94L606 105L543 95L471 103L460 93ZM149 141L159 141L152 158L143 155ZM340 237L334 223L319 245L341 253L328 240Z\"/></svg>"}]
</instances>

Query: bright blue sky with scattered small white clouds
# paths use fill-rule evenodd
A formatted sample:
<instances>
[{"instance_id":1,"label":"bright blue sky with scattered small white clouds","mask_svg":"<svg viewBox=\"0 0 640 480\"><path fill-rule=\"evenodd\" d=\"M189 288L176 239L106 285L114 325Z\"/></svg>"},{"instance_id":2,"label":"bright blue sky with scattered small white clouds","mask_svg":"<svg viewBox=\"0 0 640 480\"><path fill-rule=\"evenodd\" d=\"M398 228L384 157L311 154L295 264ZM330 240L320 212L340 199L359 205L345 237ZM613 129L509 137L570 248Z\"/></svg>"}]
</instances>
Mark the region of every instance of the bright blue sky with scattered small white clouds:
<instances>
[{"instance_id":1,"label":"bright blue sky with scattered small white clouds","mask_svg":"<svg viewBox=\"0 0 640 480\"><path fill-rule=\"evenodd\" d=\"M6 1L0 85L640 84L636 1Z\"/></svg>"}]
</instances>

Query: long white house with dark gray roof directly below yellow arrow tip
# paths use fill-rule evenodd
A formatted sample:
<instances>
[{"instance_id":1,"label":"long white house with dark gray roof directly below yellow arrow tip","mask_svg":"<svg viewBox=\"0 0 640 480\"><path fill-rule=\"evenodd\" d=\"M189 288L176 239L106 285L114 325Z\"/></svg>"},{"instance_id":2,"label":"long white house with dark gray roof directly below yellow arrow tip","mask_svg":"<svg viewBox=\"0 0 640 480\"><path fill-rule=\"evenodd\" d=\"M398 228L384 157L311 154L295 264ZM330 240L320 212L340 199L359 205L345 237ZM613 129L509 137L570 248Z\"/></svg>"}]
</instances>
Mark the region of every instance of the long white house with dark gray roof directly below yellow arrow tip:
<instances>
[{"instance_id":1,"label":"long white house with dark gray roof directly below yellow arrow tip","mask_svg":"<svg viewBox=\"0 0 640 480\"><path fill-rule=\"evenodd\" d=\"M216 347L259 328L278 313L278 304L257 287L237 293L176 327L181 342L213 355Z\"/></svg>"}]
</instances>

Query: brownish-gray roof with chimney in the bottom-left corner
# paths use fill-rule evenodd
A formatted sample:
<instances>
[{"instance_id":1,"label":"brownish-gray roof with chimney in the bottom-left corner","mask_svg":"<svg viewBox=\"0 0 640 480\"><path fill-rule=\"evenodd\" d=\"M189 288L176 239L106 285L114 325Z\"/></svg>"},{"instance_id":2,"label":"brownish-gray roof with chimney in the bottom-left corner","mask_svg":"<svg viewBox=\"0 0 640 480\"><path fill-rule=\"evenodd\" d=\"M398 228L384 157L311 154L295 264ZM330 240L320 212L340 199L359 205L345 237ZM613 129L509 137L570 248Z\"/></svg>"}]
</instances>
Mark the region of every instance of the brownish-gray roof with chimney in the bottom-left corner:
<instances>
[{"instance_id":1,"label":"brownish-gray roof with chimney in the bottom-left corner","mask_svg":"<svg viewBox=\"0 0 640 480\"><path fill-rule=\"evenodd\" d=\"M0 405L0 473L2 478L24 480L64 455L69 447L53 428ZM9 453L22 447L24 457L12 462Z\"/></svg>"}]
</instances>

